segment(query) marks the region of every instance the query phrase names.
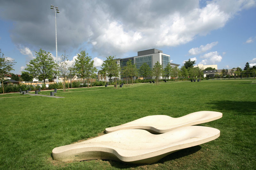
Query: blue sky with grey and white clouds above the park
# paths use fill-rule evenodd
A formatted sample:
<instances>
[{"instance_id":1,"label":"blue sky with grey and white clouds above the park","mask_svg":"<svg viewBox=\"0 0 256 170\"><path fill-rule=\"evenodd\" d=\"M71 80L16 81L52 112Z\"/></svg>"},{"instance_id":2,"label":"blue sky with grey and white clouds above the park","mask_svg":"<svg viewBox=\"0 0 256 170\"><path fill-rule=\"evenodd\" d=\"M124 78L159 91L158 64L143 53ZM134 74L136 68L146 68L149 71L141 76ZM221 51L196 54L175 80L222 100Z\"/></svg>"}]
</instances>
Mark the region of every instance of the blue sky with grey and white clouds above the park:
<instances>
[{"instance_id":1,"label":"blue sky with grey and white clouds above the park","mask_svg":"<svg viewBox=\"0 0 256 170\"><path fill-rule=\"evenodd\" d=\"M14 74L42 48L74 61L85 50L99 69L109 55L137 56L156 48L181 66L218 69L256 63L256 0L0 0L0 49Z\"/></svg>"}]
</instances>

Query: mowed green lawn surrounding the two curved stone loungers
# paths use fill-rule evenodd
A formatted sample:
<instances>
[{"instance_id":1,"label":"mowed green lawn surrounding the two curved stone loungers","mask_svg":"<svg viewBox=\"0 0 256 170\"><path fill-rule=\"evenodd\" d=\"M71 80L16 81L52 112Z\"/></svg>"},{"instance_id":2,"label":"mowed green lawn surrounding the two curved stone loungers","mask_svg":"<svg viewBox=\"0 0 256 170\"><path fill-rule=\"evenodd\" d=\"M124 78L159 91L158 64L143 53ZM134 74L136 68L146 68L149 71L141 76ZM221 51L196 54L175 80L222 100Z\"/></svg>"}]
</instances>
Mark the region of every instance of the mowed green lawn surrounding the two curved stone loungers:
<instances>
[{"instance_id":1,"label":"mowed green lawn surrounding the two curved stone loungers","mask_svg":"<svg viewBox=\"0 0 256 170\"><path fill-rule=\"evenodd\" d=\"M50 92L40 92L49 95ZM0 169L255 169L256 81L202 81L109 86L57 92L65 98L0 96ZM22 96L22 95L20 95ZM223 113L201 124L220 137L172 153L151 165L109 160L63 163L52 149L103 135L107 127L148 115Z\"/></svg>"}]
</instances>

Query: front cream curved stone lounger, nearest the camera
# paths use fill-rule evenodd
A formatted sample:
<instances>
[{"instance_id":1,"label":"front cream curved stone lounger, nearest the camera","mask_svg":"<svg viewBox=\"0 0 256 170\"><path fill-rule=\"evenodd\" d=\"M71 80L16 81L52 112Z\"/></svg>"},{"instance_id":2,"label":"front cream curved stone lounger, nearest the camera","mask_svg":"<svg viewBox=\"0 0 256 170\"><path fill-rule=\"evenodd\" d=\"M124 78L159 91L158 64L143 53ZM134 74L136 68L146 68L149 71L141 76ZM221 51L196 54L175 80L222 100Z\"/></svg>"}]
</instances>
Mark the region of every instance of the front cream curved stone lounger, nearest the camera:
<instances>
[{"instance_id":1,"label":"front cream curved stone lounger, nearest the camera","mask_svg":"<svg viewBox=\"0 0 256 170\"><path fill-rule=\"evenodd\" d=\"M125 129L52 150L54 160L110 159L134 164L154 163L172 152L212 141L220 130L189 126L154 135L146 130Z\"/></svg>"}]
</instances>

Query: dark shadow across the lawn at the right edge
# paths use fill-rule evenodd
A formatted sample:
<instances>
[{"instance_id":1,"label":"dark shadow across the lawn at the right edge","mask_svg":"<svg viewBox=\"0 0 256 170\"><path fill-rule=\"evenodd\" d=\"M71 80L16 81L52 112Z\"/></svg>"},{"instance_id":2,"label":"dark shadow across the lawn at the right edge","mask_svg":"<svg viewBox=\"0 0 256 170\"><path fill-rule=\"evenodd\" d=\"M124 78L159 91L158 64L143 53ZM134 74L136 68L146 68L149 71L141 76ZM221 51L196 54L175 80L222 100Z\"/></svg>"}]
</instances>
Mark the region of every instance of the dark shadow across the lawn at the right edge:
<instances>
[{"instance_id":1,"label":"dark shadow across the lawn at the right edge","mask_svg":"<svg viewBox=\"0 0 256 170\"><path fill-rule=\"evenodd\" d=\"M208 103L213 109L226 112L240 112L243 115L255 115L256 102L255 101L210 101Z\"/></svg>"}]
</instances>

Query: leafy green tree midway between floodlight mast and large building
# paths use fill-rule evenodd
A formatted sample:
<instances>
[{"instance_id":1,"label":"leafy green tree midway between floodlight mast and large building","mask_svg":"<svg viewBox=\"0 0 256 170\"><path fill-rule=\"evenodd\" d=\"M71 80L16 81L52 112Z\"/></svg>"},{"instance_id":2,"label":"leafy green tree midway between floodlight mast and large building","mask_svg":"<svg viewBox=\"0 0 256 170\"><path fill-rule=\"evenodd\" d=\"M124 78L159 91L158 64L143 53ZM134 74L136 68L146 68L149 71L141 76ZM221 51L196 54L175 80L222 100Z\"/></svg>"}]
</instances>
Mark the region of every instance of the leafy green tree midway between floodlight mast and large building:
<instances>
[{"instance_id":1,"label":"leafy green tree midway between floodlight mast and large building","mask_svg":"<svg viewBox=\"0 0 256 170\"><path fill-rule=\"evenodd\" d=\"M89 88L89 78L92 77L97 71L96 67L93 66L94 61L91 56L88 56L88 53L81 51L80 54L77 54L75 59L75 70L78 76L85 79L87 78L87 85Z\"/></svg>"}]
</instances>

